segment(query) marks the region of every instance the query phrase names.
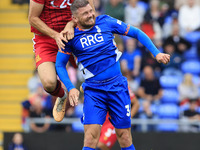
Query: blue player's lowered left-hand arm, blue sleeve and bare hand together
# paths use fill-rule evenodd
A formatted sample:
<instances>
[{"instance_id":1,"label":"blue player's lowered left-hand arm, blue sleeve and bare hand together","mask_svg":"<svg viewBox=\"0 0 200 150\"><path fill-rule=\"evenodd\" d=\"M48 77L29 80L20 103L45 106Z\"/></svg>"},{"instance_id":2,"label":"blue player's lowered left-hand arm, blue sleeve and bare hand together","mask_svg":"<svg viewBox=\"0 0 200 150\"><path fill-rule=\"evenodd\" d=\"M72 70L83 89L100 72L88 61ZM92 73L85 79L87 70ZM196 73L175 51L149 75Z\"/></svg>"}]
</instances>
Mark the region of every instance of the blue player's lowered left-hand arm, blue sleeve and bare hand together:
<instances>
[{"instance_id":1,"label":"blue player's lowered left-hand arm, blue sleeve and bare hand together","mask_svg":"<svg viewBox=\"0 0 200 150\"><path fill-rule=\"evenodd\" d=\"M69 92L70 105L75 106L78 105L79 91L74 87L74 85L70 81L66 70L66 64L69 60L69 57L70 53L67 54L59 51L57 54L55 66L60 80L64 83L65 87Z\"/></svg>"}]
</instances>

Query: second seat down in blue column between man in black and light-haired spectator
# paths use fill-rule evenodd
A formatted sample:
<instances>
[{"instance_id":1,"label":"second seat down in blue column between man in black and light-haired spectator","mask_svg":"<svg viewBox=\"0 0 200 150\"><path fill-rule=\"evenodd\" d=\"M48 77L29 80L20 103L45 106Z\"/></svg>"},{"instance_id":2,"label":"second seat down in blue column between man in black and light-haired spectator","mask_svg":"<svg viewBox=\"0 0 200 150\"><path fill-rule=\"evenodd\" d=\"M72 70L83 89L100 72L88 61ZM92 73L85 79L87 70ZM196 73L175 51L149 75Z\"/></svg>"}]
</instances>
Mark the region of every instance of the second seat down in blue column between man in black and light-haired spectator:
<instances>
[{"instance_id":1,"label":"second seat down in blue column between man in black and light-haired spectator","mask_svg":"<svg viewBox=\"0 0 200 150\"><path fill-rule=\"evenodd\" d=\"M163 104L165 104L165 103L178 104L178 102L179 102L178 91L175 89L164 89L163 96L161 98L161 102Z\"/></svg>"}]
</instances>

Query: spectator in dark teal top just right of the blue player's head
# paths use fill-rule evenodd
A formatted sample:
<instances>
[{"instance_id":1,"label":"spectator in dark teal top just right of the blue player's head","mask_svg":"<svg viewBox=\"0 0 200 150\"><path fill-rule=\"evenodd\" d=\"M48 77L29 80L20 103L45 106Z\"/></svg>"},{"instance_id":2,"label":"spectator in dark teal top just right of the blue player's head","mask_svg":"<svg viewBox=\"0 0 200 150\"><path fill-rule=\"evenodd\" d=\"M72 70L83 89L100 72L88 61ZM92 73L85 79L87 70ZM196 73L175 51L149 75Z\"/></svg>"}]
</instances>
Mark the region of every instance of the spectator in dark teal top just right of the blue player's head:
<instances>
[{"instance_id":1,"label":"spectator in dark teal top just right of the blue player's head","mask_svg":"<svg viewBox=\"0 0 200 150\"><path fill-rule=\"evenodd\" d=\"M124 21L124 4L121 0L109 0L105 5L105 13Z\"/></svg>"}]
</instances>

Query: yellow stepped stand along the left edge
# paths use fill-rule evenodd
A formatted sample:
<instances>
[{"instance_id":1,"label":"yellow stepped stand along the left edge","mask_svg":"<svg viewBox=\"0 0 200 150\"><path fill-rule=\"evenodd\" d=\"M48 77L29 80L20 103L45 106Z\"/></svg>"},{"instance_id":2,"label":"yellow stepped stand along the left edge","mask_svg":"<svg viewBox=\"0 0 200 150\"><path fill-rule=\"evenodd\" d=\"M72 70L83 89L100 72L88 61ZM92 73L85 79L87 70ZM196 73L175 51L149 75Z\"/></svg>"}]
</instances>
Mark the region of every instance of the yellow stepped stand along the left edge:
<instances>
[{"instance_id":1,"label":"yellow stepped stand along the left edge","mask_svg":"<svg viewBox=\"0 0 200 150\"><path fill-rule=\"evenodd\" d=\"M34 68L28 5L0 1L0 150L3 132L22 131L21 101Z\"/></svg>"}]
</instances>

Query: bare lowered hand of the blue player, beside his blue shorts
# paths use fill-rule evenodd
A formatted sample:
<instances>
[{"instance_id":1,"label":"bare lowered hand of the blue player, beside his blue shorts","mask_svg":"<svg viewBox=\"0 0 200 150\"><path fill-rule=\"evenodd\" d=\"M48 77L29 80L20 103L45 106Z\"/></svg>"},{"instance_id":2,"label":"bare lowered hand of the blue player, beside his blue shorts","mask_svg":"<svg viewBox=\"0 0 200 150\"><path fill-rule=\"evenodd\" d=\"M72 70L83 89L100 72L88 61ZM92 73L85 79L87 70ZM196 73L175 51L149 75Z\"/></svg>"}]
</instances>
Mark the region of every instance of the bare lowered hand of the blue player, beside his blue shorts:
<instances>
[{"instance_id":1,"label":"bare lowered hand of the blue player, beside his blue shorts","mask_svg":"<svg viewBox=\"0 0 200 150\"><path fill-rule=\"evenodd\" d=\"M78 105L79 93L80 92L76 88L69 91L69 103L71 106Z\"/></svg>"}]
</instances>

